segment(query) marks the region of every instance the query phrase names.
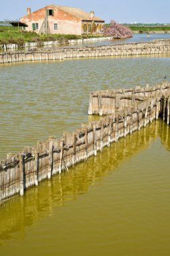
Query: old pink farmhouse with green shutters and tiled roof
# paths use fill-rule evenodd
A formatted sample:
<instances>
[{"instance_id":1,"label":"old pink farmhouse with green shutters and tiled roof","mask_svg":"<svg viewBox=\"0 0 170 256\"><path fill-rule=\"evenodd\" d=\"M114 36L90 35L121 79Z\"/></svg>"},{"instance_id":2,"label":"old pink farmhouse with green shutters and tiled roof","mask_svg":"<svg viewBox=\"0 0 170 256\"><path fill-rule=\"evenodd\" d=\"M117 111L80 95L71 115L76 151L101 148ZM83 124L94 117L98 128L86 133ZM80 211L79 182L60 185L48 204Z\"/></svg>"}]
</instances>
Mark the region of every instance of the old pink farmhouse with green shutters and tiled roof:
<instances>
[{"instance_id":1,"label":"old pink farmhouse with green shutters and tiled roof","mask_svg":"<svg viewBox=\"0 0 170 256\"><path fill-rule=\"evenodd\" d=\"M94 11L87 13L78 8L48 5L20 18L28 25L26 31L39 34L103 34L104 20L95 17Z\"/></svg>"}]
</instances>

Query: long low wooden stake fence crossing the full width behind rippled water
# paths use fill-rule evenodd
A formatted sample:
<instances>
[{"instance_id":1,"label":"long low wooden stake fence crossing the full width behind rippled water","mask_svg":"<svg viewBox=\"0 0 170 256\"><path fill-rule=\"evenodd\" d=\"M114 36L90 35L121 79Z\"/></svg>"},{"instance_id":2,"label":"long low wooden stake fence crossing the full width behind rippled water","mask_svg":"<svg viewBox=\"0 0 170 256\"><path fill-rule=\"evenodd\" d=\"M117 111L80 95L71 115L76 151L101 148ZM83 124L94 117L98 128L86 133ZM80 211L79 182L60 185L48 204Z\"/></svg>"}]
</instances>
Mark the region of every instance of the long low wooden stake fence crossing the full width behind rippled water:
<instances>
[{"instance_id":1,"label":"long low wooden stake fence crossing the full width behind rippled water","mask_svg":"<svg viewBox=\"0 0 170 256\"><path fill-rule=\"evenodd\" d=\"M108 57L130 55L164 55L170 53L170 40L153 40L134 44L112 44L106 46L86 46L66 49L32 49L0 53L0 63L25 61L55 61L83 57Z\"/></svg>"}]
</instances>

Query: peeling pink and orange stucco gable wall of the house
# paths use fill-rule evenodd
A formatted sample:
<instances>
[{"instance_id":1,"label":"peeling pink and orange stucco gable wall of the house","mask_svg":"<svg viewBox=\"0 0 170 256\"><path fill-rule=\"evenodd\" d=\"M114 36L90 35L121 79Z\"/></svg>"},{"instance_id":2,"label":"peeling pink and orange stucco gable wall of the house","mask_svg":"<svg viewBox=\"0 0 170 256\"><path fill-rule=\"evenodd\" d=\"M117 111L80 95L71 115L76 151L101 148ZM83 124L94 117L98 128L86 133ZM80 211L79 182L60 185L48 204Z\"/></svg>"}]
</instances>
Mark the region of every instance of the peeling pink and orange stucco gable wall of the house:
<instances>
[{"instance_id":1,"label":"peeling pink and orange stucco gable wall of the house","mask_svg":"<svg viewBox=\"0 0 170 256\"><path fill-rule=\"evenodd\" d=\"M47 9L54 9L54 16L48 16L51 34L81 34L81 19L76 18L69 13L65 13L65 11L57 9L52 5ZM33 31L32 24L38 23L38 30L35 30L35 32L39 32L45 17L46 8L42 8L34 13L24 16L20 20L21 22L28 24L26 31ZM57 30L54 30L54 24L57 24Z\"/></svg>"}]
</instances>

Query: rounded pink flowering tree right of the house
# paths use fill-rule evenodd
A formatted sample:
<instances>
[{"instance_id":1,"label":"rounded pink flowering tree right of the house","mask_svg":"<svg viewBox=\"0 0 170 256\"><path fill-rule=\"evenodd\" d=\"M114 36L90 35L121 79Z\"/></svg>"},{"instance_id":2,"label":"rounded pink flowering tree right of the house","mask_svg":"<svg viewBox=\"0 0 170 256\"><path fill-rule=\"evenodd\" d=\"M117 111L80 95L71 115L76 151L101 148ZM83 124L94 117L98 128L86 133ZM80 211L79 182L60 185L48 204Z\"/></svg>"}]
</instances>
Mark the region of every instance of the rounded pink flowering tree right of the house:
<instances>
[{"instance_id":1,"label":"rounded pink flowering tree right of the house","mask_svg":"<svg viewBox=\"0 0 170 256\"><path fill-rule=\"evenodd\" d=\"M123 26L122 24L118 24L114 20L111 20L110 26L104 29L103 35L124 39L132 37L132 31L130 30L130 28L127 28L126 26Z\"/></svg>"}]
</instances>

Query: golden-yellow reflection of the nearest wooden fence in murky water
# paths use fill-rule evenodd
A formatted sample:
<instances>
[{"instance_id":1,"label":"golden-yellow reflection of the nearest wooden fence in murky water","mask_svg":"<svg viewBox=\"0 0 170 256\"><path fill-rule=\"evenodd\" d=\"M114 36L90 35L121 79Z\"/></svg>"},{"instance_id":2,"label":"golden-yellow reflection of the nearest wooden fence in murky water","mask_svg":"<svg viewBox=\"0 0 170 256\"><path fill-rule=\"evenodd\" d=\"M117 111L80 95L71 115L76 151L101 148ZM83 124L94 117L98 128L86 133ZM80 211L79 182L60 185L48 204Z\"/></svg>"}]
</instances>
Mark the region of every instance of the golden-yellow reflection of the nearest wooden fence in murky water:
<instances>
[{"instance_id":1,"label":"golden-yellow reflection of the nearest wooden fence in murky water","mask_svg":"<svg viewBox=\"0 0 170 256\"><path fill-rule=\"evenodd\" d=\"M153 122L145 129L113 143L110 148L104 148L102 153L71 168L69 172L40 183L38 188L29 189L24 197L16 196L5 201L0 205L0 245L11 238L24 238L27 226L34 225L43 217L52 216L56 207L65 206L67 201L77 200L77 197L87 193L91 185L97 181L102 183L103 177L119 170L123 162L146 150L159 137L169 150L169 131L163 121Z\"/></svg>"}]
</instances>

